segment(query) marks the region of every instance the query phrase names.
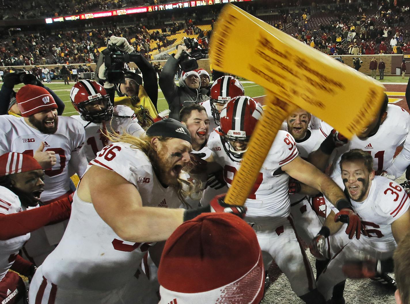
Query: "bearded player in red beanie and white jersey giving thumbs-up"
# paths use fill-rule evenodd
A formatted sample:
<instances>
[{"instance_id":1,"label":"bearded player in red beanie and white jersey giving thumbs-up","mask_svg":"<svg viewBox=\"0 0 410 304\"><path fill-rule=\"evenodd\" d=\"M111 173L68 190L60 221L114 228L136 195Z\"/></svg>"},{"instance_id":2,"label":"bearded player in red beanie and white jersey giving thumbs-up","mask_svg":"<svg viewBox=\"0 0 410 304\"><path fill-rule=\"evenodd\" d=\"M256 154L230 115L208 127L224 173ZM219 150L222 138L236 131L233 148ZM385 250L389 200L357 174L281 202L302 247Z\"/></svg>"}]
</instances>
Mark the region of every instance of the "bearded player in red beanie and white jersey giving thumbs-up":
<instances>
[{"instance_id":1,"label":"bearded player in red beanie and white jersey giving thumbs-up","mask_svg":"<svg viewBox=\"0 0 410 304\"><path fill-rule=\"evenodd\" d=\"M81 150L84 127L71 117L57 116L57 105L45 88L25 85L18 90L16 100L23 117L0 116L0 154L28 154L40 163L45 170L44 204L68 197L73 192L68 168L79 177L87 168L87 159ZM27 258L41 265L63 233L63 223L34 231L25 244Z\"/></svg>"}]
</instances>

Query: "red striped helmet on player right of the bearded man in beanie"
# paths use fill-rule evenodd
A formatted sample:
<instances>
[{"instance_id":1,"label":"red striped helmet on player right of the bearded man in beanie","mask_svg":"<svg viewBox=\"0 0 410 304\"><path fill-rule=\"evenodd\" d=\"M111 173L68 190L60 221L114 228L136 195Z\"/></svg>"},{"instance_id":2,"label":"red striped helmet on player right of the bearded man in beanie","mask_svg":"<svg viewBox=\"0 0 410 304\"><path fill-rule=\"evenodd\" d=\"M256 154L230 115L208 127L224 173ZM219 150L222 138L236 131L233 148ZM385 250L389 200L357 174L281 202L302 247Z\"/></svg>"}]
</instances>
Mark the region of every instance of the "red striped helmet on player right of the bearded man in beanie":
<instances>
[{"instance_id":1,"label":"red striped helmet on player right of the bearded man in beanie","mask_svg":"<svg viewBox=\"0 0 410 304\"><path fill-rule=\"evenodd\" d=\"M109 120L113 115L113 106L109 100L109 95L103 86L96 81L85 79L77 82L71 88L70 99L75 110L80 113L81 118L85 121L98 124ZM92 105L101 102L103 103L101 110L90 109Z\"/></svg>"}]
</instances>

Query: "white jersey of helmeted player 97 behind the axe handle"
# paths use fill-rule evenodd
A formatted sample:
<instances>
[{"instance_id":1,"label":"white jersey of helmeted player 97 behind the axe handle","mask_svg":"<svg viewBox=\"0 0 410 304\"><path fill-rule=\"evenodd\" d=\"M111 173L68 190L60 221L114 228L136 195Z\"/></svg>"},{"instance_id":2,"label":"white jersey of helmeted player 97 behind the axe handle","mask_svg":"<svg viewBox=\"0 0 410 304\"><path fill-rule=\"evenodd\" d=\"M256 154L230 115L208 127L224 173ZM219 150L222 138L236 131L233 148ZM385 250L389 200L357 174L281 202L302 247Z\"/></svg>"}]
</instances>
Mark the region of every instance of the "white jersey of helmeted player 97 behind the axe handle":
<instances>
[{"instance_id":1,"label":"white jersey of helmeted player 97 behind the axe handle","mask_svg":"<svg viewBox=\"0 0 410 304\"><path fill-rule=\"evenodd\" d=\"M232 161L229 158L216 132L212 132L208 140L208 147L212 150L214 160L223 168L225 182L228 187L231 187L232 179L241 165L240 160ZM289 216L289 175L278 169L297 156L298 149L292 135L279 130L246 200L247 217L283 218Z\"/></svg>"}]
</instances>

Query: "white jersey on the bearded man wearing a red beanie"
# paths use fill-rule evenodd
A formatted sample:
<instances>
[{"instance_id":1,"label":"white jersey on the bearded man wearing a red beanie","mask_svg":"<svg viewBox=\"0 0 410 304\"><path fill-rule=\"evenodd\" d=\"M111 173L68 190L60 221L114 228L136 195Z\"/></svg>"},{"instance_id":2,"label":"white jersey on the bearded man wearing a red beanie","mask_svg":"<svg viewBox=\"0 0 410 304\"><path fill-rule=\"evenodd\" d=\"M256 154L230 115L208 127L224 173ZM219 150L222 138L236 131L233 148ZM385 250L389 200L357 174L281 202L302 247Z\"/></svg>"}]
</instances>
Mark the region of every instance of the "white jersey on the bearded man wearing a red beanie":
<instances>
[{"instance_id":1,"label":"white jersey on the bearded man wearing a red beanie","mask_svg":"<svg viewBox=\"0 0 410 304\"><path fill-rule=\"evenodd\" d=\"M43 201L62 196L70 190L68 163L71 154L80 151L85 139L84 127L71 117L58 116L57 126L54 134L44 134L26 124L23 117L0 116L0 155L19 152L33 156L41 142L44 142L44 151L55 152L57 163L44 171L45 186L41 194ZM80 153L76 156L80 157L80 155L84 157L84 154ZM78 159L74 161L81 162ZM85 157L82 166L84 168L75 168L76 172L80 170L83 173L86 169Z\"/></svg>"}]
</instances>

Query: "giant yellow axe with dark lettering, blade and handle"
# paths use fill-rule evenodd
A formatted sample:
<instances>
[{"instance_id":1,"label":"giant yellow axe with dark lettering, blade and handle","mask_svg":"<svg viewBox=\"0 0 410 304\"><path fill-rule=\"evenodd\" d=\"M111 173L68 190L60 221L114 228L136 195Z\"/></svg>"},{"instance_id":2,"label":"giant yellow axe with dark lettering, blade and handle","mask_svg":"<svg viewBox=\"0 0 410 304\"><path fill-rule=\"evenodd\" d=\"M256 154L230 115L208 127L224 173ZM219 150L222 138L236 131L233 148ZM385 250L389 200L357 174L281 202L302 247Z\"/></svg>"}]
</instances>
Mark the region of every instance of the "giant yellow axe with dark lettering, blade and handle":
<instances>
[{"instance_id":1,"label":"giant yellow axe with dark lettering, blade and handle","mask_svg":"<svg viewBox=\"0 0 410 304\"><path fill-rule=\"evenodd\" d=\"M283 120L300 107L351 138L377 115L384 87L232 4L225 5L210 44L214 69L269 91L262 119L225 202L244 205ZM353 99L354 97L354 99Z\"/></svg>"}]
</instances>

